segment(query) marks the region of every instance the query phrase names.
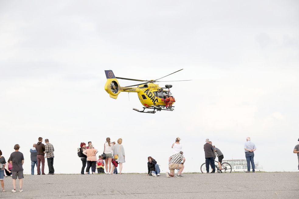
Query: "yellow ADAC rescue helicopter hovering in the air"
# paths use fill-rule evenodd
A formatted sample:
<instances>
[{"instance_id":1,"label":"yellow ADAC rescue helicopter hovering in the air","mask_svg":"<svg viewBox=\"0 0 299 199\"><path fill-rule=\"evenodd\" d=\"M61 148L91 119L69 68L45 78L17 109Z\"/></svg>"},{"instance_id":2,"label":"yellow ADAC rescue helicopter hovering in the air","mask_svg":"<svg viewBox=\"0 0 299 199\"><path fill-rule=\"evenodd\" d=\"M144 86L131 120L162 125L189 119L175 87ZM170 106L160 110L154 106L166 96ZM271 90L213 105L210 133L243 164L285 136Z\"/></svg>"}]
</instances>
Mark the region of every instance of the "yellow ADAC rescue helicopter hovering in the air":
<instances>
[{"instance_id":1,"label":"yellow ADAC rescue helicopter hovering in the air","mask_svg":"<svg viewBox=\"0 0 299 199\"><path fill-rule=\"evenodd\" d=\"M181 69L183 70L183 69ZM181 70L178 70L176 72L179 72ZM174 73L176 73L174 72ZM173 111L173 103L167 107L165 103L165 99L167 97L172 97L172 94L170 92L170 88L172 85L165 85L165 87L159 87L158 84L155 84L155 82L169 82L169 81L157 81L159 79L162 79L164 77L167 77L169 75L166 75L164 77L161 77L156 80L137 80L137 79L130 79L130 78L124 78L124 77L115 77L112 70L105 70L107 81L105 84L105 91L110 95L111 98L116 99L117 95L120 94L120 92L135 92L138 95L139 101L144 106L142 107L143 110L140 111L136 108L133 108L133 110L141 112L141 113L155 113L157 111L165 110L165 111ZM131 80L131 81L142 81L144 83L141 84L135 84L131 86L121 87L118 83L117 79L124 79L124 80ZM191 80L179 80L179 81L191 81ZM137 86L137 87L134 87ZM150 109L148 111L145 111L145 109Z\"/></svg>"}]
</instances>

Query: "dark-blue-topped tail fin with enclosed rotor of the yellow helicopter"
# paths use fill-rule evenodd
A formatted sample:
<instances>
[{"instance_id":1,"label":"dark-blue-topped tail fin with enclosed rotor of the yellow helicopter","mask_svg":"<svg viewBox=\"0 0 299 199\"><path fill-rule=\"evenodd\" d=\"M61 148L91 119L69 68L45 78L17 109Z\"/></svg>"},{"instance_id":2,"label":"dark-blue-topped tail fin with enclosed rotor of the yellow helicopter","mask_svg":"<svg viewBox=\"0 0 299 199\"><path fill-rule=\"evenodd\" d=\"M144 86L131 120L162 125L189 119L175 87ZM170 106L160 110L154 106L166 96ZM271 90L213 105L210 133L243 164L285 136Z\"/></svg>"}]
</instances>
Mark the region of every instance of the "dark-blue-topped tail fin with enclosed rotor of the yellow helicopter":
<instances>
[{"instance_id":1,"label":"dark-blue-topped tail fin with enclosed rotor of the yellow helicopter","mask_svg":"<svg viewBox=\"0 0 299 199\"><path fill-rule=\"evenodd\" d=\"M112 70L105 70L107 81L104 86L105 91L110 95L111 98L116 99L117 95L120 94L121 88Z\"/></svg>"}]
</instances>

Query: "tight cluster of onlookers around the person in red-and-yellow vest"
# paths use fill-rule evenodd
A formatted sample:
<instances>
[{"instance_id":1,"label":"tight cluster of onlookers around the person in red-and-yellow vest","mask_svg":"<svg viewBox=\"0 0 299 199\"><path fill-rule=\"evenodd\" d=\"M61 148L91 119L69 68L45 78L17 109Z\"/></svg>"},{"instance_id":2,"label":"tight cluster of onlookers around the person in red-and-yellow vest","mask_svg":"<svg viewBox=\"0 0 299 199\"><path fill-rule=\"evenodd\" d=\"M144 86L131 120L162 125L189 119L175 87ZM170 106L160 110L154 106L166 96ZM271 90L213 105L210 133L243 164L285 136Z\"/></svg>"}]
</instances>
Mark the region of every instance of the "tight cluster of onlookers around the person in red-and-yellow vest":
<instances>
[{"instance_id":1,"label":"tight cluster of onlookers around the person in red-and-yellow vest","mask_svg":"<svg viewBox=\"0 0 299 199\"><path fill-rule=\"evenodd\" d=\"M99 159L96 159L96 154L99 152L98 149L95 149L92 145L92 142L81 142L80 148L78 149L78 156L82 161L81 174L89 174L91 168L92 174L96 173L105 173L104 166L106 169L106 174L116 174L117 168L119 166L119 173L123 169L123 163L125 163L125 151L122 145L123 139L119 138L116 142L111 142L110 138L106 138L106 142L103 146L103 154L99 156ZM85 166L87 167L85 170ZM85 173L84 173L85 170Z\"/></svg>"}]
</instances>

